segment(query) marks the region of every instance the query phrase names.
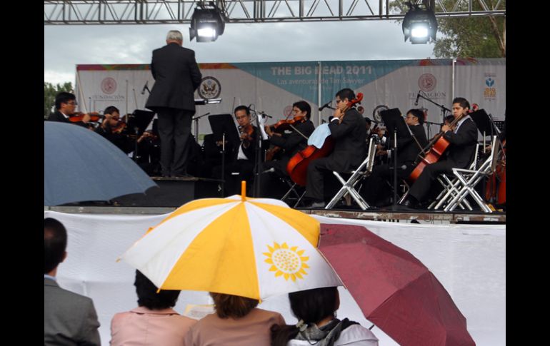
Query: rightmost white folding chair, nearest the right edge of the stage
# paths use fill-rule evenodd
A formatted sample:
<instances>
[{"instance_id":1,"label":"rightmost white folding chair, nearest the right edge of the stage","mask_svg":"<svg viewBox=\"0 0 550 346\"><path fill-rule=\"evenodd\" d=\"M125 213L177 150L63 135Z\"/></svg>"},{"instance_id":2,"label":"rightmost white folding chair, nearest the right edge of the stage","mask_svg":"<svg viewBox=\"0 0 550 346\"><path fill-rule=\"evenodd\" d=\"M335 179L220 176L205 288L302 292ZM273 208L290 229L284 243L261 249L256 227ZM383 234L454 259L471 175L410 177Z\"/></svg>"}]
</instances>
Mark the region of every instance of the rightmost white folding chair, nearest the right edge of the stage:
<instances>
[{"instance_id":1,"label":"rightmost white folding chair, nearest the right edge of the stage","mask_svg":"<svg viewBox=\"0 0 550 346\"><path fill-rule=\"evenodd\" d=\"M483 163L477 169L461 169L453 168L453 174L458 179L458 183L451 191L448 192L449 195L453 197L449 200L449 203L446 204L444 210L452 211L456 208L459 203L464 201L467 195L476 201L481 210L485 213L492 213L493 210L489 208L489 205L485 203L483 198L477 193L474 189L476 185L481 181L482 178L485 178L491 173L494 172L497 164L497 158L499 157L499 138L493 136L491 141L491 153Z\"/></svg>"}]
</instances>

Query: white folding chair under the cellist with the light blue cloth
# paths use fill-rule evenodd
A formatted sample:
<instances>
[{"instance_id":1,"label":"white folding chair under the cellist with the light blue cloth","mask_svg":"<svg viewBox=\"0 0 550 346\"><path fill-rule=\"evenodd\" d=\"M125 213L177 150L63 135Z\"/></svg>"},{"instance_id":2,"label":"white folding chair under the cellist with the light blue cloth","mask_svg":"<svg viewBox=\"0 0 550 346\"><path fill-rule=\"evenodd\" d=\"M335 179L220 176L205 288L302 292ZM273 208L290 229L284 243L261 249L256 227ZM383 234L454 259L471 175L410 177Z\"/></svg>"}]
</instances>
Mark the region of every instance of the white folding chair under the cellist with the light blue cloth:
<instances>
[{"instance_id":1,"label":"white folding chair under the cellist with the light blue cloth","mask_svg":"<svg viewBox=\"0 0 550 346\"><path fill-rule=\"evenodd\" d=\"M369 151L366 153L366 158L361 162L361 165L359 165L358 168L356 168L354 171L351 171L350 177L348 180L344 180L344 178L341 177L341 175L338 172L332 172L336 178L339 180L339 182L342 184L342 187L334 195L334 197L331 199L329 204L326 205L325 209L331 209L336 205L336 203L340 200L340 198L344 198L346 195L351 195L351 198L355 200L355 202L359 205L359 207L362 210L369 209L369 204L366 203L366 201L359 195L357 190L355 189L355 185L366 177L369 173L372 171L372 165L374 164L374 154L376 152L376 145L373 143L373 138L369 140Z\"/></svg>"}]
</instances>

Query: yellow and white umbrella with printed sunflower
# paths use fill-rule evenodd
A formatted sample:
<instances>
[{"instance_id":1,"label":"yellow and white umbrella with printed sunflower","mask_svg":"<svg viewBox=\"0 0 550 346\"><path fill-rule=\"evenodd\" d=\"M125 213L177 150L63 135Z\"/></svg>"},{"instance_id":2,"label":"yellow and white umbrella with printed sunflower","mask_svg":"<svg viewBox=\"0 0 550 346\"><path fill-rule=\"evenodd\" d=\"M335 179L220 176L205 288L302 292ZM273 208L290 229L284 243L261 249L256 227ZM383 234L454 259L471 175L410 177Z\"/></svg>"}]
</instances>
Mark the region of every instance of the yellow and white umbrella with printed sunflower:
<instances>
[{"instance_id":1,"label":"yellow and white umbrella with printed sunflower","mask_svg":"<svg viewBox=\"0 0 550 346\"><path fill-rule=\"evenodd\" d=\"M246 198L244 192L204 198L176 209L121 259L163 290L263 300L341 285L316 249L319 225L281 200Z\"/></svg>"}]
</instances>

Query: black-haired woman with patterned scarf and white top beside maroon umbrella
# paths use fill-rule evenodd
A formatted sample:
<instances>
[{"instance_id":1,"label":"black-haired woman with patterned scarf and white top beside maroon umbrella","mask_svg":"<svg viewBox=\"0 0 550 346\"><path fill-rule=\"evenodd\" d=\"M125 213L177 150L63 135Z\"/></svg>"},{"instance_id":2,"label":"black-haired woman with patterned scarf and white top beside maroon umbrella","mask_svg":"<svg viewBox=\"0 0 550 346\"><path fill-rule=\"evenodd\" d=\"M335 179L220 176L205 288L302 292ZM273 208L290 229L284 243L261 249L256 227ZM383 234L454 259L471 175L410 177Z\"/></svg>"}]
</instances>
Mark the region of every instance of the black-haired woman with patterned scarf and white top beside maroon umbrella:
<instances>
[{"instance_id":1,"label":"black-haired woman with patterned scarf and white top beside maroon umbrella","mask_svg":"<svg viewBox=\"0 0 550 346\"><path fill-rule=\"evenodd\" d=\"M289 293L296 325L271 327L272 346L378 346L374 334L359 323L336 318L338 288L315 288Z\"/></svg>"}]
</instances>

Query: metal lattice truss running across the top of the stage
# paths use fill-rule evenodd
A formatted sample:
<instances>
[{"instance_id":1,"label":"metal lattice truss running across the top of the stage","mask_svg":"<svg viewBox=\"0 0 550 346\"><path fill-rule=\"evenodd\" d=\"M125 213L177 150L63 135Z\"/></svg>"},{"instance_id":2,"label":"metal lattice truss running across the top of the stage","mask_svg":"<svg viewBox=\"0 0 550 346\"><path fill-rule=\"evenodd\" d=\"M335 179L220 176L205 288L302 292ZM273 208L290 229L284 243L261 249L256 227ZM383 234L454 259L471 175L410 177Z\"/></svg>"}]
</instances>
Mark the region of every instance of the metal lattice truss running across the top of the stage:
<instances>
[{"instance_id":1,"label":"metal lattice truss running across the top of the stage","mask_svg":"<svg viewBox=\"0 0 550 346\"><path fill-rule=\"evenodd\" d=\"M426 1L426 0L424 0ZM502 0L428 0L438 17L506 16ZM217 0L226 23L403 19L390 0ZM420 4L421 0L411 2ZM44 0L44 24L187 24L191 0Z\"/></svg>"}]
</instances>

